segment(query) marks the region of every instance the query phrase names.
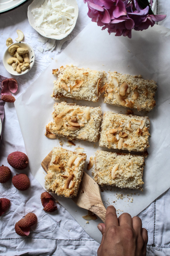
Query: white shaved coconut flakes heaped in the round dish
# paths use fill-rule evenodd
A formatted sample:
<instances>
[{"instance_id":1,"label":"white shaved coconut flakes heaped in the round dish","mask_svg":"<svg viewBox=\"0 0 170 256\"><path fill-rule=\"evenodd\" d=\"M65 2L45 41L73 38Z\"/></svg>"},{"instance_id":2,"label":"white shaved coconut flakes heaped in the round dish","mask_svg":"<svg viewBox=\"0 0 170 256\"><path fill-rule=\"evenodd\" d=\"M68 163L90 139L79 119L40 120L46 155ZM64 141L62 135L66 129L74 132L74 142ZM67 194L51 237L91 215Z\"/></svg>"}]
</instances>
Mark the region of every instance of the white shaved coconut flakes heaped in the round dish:
<instances>
[{"instance_id":1,"label":"white shaved coconut flakes heaped in the round dish","mask_svg":"<svg viewBox=\"0 0 170 256\"><path fill-rule=\"evenodd\" d=\"M68 32L75 17L74 7L63 1L48 0L32 11L36 27L46 36L61 35Z\"/></svg>"}]
</instances>

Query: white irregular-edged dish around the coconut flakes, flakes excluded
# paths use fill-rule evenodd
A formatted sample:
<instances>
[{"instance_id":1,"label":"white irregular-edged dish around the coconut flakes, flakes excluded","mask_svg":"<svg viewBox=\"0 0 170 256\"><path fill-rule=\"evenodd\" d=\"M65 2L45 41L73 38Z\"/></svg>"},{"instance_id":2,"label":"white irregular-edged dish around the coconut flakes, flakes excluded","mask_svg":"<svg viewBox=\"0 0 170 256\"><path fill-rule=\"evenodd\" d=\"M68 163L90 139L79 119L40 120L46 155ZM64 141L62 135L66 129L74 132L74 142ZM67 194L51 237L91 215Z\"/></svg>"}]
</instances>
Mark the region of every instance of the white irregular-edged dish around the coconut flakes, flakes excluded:
<instances>
[{"instance_id":1,"label":"white irregular-edged dish around the coconut flakes, flakes excluded","mask_svg":"<svg viewBox=\"0 0 170 256\"><path fill-rule=\"evenodd\" d=\"M74 7L74 12L75 12L75 17L74 17L74 22L71 26L71 28L65 33L65 34L61 34L61 35L51 35L51 36L46 36L46 34L44 33L43 30L41 30L40 28L36 27L35 25L35 19L33 16L33 13L31 12L34 8L39 8L41 6L41 4L44 3L44 0L34 0L29 6L28 6L28 21L30 23L30 25L41 35L41 36L45 36L48 38L52 38L52 39L57 39L57 40L61 40L64 37L68 36L71 31L73 30L73 28L76 25L76 21L78 18L78 4L76 2L76 0L64 0L65 4L68 4L70 6Z\"/></svg>"}]
</instances>

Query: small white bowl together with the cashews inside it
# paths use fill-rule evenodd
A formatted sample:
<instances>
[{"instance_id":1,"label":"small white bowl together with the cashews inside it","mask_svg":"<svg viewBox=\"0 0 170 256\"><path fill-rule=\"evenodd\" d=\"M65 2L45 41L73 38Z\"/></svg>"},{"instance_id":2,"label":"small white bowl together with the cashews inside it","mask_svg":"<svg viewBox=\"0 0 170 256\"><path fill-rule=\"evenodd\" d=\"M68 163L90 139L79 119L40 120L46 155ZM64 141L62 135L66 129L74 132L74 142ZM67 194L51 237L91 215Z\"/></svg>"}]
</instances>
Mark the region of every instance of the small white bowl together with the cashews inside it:
<instances>
[{"instance_id":1,"label":"small white bowl together with the cashews inside it","mask_svg":"<svg viewBox=\"0 0 170 256\"><path fill-rule=\"evenodd\" d=\"M14 76L26 74L33 67L34 50L25 42L10 44L4 53L3 64L6 70Z\"/></svg>"}]
</instances>

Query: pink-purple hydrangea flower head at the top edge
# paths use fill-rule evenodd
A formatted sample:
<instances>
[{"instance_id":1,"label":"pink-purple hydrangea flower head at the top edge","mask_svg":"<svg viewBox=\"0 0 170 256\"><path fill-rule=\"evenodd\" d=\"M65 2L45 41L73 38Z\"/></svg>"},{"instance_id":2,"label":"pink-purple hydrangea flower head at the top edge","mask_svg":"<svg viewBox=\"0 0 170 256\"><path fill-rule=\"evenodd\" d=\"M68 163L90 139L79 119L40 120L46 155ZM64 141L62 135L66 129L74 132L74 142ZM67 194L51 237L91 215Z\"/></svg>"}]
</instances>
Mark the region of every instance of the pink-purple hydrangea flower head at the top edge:
<instances>
[{"instance_id":1,"label":"pink-purple hydrangea flower head at the top edge","mask_svg":"<svg viewBox=\"0 0 170 256\"><path fill-rule=\"evenodd\" d=\"M131 31L144 30L153 26L155 22L165 19L166 15L152 13L152 0L150 4L141 6L141 0L84 0L88 5L88 16L93 22L107 29L115 36L128 36ZM148 0L145 0L147 3Z\"/></svg>"}]
</instances>

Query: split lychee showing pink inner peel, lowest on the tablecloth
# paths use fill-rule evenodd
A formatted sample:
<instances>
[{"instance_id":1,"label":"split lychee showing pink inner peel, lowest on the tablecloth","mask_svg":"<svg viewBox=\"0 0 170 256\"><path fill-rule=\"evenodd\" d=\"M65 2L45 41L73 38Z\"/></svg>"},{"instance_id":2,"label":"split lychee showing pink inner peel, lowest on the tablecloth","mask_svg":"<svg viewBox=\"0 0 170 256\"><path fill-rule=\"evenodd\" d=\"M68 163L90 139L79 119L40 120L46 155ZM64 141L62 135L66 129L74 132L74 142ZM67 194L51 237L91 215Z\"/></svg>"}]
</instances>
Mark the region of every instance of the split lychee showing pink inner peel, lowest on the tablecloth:
<instances>
[{"instance_id":1,"label":"split lychee showing pink inner peel, lowest on the tablecloth","mask_svg":"<svg viewBox=\"0 0 170 256\"><path fill-rule=\"evenodd\" d=\"M19 236L28 236L30 234L30 227L33 226L37 222L37 216L29 212L26 214L26 216L19 220L15 224L15 232Z\"/></svg>"}]
</instances>

